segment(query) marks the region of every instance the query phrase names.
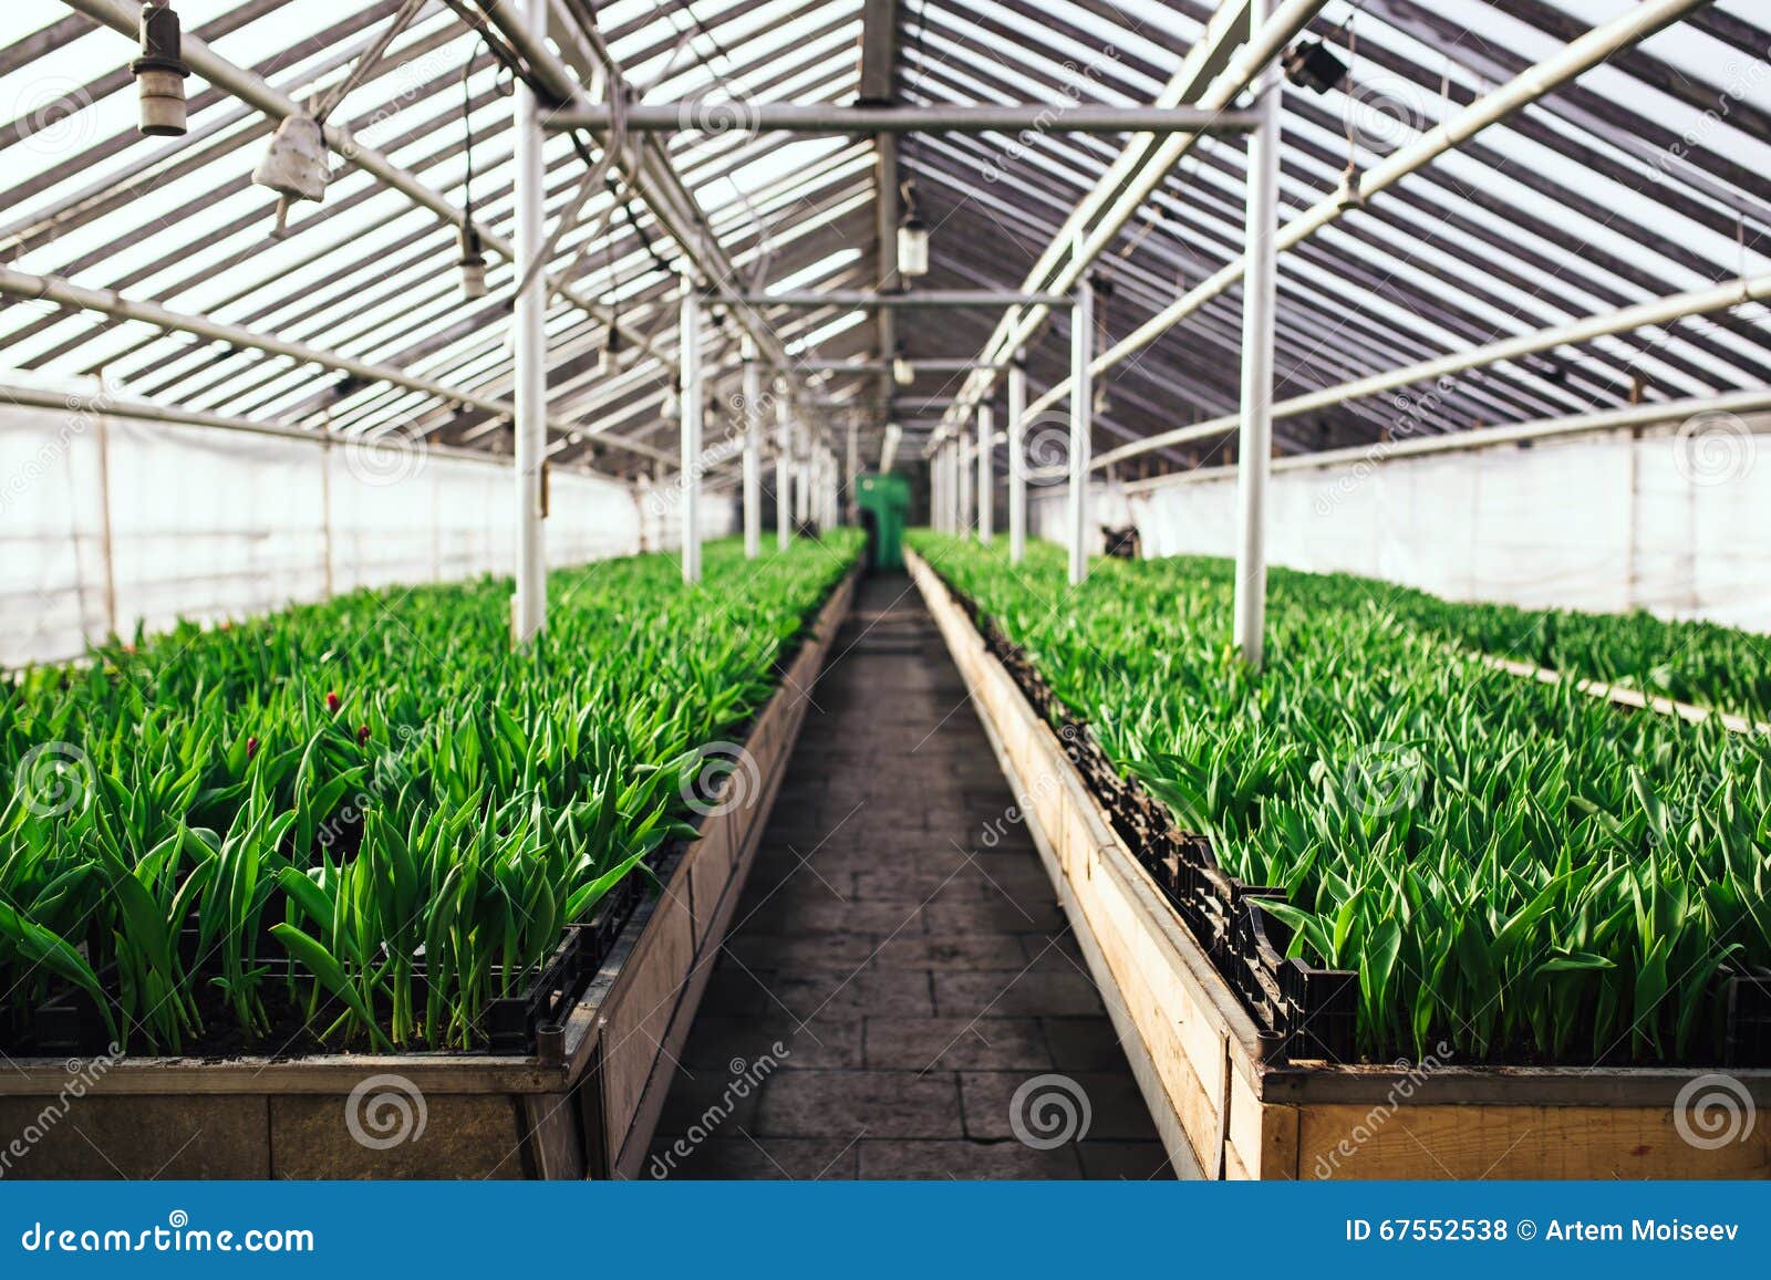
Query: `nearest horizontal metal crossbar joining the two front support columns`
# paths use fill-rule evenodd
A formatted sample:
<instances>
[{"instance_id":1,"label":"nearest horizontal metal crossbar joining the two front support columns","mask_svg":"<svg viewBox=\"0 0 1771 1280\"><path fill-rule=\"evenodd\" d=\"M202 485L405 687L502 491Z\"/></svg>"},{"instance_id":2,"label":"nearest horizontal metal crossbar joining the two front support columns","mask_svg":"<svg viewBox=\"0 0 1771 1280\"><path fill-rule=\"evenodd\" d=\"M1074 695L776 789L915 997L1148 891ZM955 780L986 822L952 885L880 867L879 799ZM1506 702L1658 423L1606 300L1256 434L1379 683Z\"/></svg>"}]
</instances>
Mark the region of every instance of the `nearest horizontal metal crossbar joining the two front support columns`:
<instances>
[{"instance_id":1,"label":"nearest horizontal metal crossbar joining the two front support columns","mask_svg":"<svg viewBox=\"0 0 1771 1280\"><path fill-rule=\"evenodd\" d=\"M604 104L570 106L549 129L609 129ZM829 103L684 101L638 103L622 112L634 133L1247 133L1250 112L1199 106L1100 106L1077 103L834 106Z\"/></svg>"}]
</instances>

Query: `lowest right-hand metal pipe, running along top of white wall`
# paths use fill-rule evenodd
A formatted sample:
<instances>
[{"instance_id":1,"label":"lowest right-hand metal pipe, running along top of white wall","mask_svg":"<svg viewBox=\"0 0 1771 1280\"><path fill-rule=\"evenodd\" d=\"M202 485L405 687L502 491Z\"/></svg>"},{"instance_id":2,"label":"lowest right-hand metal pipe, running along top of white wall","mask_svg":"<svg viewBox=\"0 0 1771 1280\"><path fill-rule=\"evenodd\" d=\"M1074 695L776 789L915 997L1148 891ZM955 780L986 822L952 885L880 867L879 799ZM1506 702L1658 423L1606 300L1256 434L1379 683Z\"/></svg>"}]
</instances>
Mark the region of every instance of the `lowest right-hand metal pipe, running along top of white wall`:
<instances>
[{"instance_id":1,"label":"lowest right-hand metal pipe, running along top of white wall","mask_svg":"<svg viewBox=\"0 0 1771 1280\"><path fill-rule=\"evenodd\" d=\"M1369 462L1381 464L1396 459L1422 457L1433 453L1468 453L1473 450L1520 444L1523 441L1555 439L1558 436L1590 436L1594 432L1631 430L1636 427L1663 427L1672 421L1686 421L1705 414L1753 414L1771 413L1771 391L1728 391L1723 395L1691 397L1690 400L1665 400L1659 404L1628 405L1624 409L1601 409L1597 413L1571 414L1567 418L1539 418L1535 421L1509 423L1505 427L1481 427L1475 430L1450 432L1447 436L1422 436L1404 441L1383 441L1342 450L1323 450L1321 453L1298 453L1286 459L1273 459L1273 471L1319 471L1344 464ZM1151 476L1149 480L1126 482L1126 492L1148 492L1171 485L1194 485L1206 480L1226 480L1236 474L1236 464L1227 462L1217 467L1201 467L1174 476Z\"/></svg>"}]
</instances>

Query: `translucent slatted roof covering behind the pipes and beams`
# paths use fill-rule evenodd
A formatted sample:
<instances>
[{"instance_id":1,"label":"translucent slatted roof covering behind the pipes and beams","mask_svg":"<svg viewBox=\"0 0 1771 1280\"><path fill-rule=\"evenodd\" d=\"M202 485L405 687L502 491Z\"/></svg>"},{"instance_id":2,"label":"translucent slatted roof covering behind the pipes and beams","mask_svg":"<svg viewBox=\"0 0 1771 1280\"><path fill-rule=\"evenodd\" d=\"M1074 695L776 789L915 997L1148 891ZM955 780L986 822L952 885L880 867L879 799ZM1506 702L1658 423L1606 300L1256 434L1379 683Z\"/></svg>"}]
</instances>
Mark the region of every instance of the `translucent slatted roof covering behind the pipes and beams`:
<instances>
[{"instance_id":1,"label":"translucent slatted roof covering behind the pipes and beams","mask_svg":"<svg viewBox=\"0 0 1771 1280\"><path fill-rule=\"evenodd\" d=\"M397 11L395 0L181 0L186 30L296 97L333 83ZM460 9L473 9L460 4ZM1284 90L1280 218L1334 193L1350 152L1360 168L1633 0L1330 0L1311 34L1351 62L1342 90ZM1357 11L1357 12L1355 12ZM1757 18L1755 18L1757 11ZM560 9L556 7L556 14ZM1208 0L901 0L896 94L912 103L1148 103L1211 16ZM1348 27L1348 19L1351 25ZM558 21L558 18L556 18ZM597 7L615 58L648 101L854 101L861 0L731 0ZM1714 0L1280 255L1280 397L1771 269L1771 19L1760 0ZM275 197L250 184L271 124L197 76L191 133L138 138L126 64L131 41L53 0L0 16L0 260L204 312L280 338L398 365L507 395L512 271L492 258L492 296L459 301L453 230L372 175L335 161L326 202L296 205L285 241L267 239ZM1351 44L1351 51L1350 51ZM365 142L460 204L462 67L473 110L475 205L512 232L508 76L434 2L390 58L335 113ZM717 81L717 83L715 83ZM924 287L1015 289L1068 212L1125 145L1048 133L912 135L905 177L933 225ZM868 138L682 135L685 184L737 266L770 289L868 287L875 264L875 154ZM549 135L549 214L584 166ZM1243 143L1204 140L1102 260L1112 340L1241 250ZM597 193L554 260L581 292L616 303L623 324L675 347L677 250L638 198L615 212ZM630 212L629 212L630 211ZM549 220L551 225L551 220ZM641 244L650 243L650 250ZM910 359L972 358L995 313L923 312L900 324ZM793 356L877 354L873 320L834 308L770 313ZM1029 351L1031 382L1068 372L1063 315ZM1105 379L1102 444L1231 411L1240 290L1229 290ZM604 326L556 299L549 313L554 418L576 432L558 457L609 469L650 466L593 450L597 436L669 444L661 420L669 370L634 359L593 374ZM710 352L735 358L735 326ZM418 421L441 439L508 448L508 432L437 400L289 359L163 335L44 303L0 310L0 363L48 375L94 372L133 395L260 420L372 430ZM731 374L726 375L730 391ZM1771 324L1759 305L1667 331L1605 338L1495 365L1442 393L1429 430L1562 416L1629 400L1681 398L1771 382ZM958 375L924 372L896 416L939 416ZM866 402L873 381L834 375L825 391ZM933 409L921 409L933 397ZM1380 436L1390 400L1353 402L1275 425L1288 451ZM878 427L877 421L871 427ZM577 436L583 434L583 441ZM871 448L871 441L870 441ZM1183 448L1156 462L1210 460Z\"/></svg>"}]
</instances>

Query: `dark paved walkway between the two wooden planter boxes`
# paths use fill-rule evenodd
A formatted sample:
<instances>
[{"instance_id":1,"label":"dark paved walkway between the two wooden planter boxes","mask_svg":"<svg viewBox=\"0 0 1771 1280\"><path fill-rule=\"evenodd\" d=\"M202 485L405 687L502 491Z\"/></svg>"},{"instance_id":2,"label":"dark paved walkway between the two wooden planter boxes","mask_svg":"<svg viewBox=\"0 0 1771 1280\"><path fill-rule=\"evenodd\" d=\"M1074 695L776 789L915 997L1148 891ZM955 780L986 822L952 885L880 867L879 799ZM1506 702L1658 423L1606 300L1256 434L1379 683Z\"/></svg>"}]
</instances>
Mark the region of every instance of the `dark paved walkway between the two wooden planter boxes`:
<instances>
[{"instance_id":1,"label":"dark paved walkway between the two wooden planter boxes","mask_svg":"<svg viewBox=\"0 0 1771 1280\"><path fill-rule=\"evenodd\" d=\"M909 577L813 698L645 1176L1172 1176Z\"/></svg>"}]
</instances>

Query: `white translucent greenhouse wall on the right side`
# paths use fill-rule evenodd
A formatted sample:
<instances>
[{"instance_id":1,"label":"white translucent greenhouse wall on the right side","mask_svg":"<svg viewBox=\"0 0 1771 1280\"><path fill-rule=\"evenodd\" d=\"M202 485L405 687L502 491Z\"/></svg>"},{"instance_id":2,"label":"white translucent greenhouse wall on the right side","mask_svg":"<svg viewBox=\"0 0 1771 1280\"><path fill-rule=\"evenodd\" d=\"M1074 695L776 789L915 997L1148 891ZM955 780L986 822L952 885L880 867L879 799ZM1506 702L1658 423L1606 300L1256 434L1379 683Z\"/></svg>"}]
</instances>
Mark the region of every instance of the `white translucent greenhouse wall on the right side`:
<instances>
[{"instance_id":1,"label":"white translucent greenhouse wall on the right side","mask_svg":"<svg viewBox=\"0 0 1771 1280\"><path fill-rule=\"evenodd\" d=\"M1723 444L1693 459L1672 432L1619 432L1277 471L1268 554L1452 600L1771 632L1771 436ZM1234 554L1233 473L1139 489L1096 485L1091 524L1123 522L1128 503L1146 556ZM1031 529L1061 540L1066 505L1036 490Z\"/></svg>"}]
</instances>

